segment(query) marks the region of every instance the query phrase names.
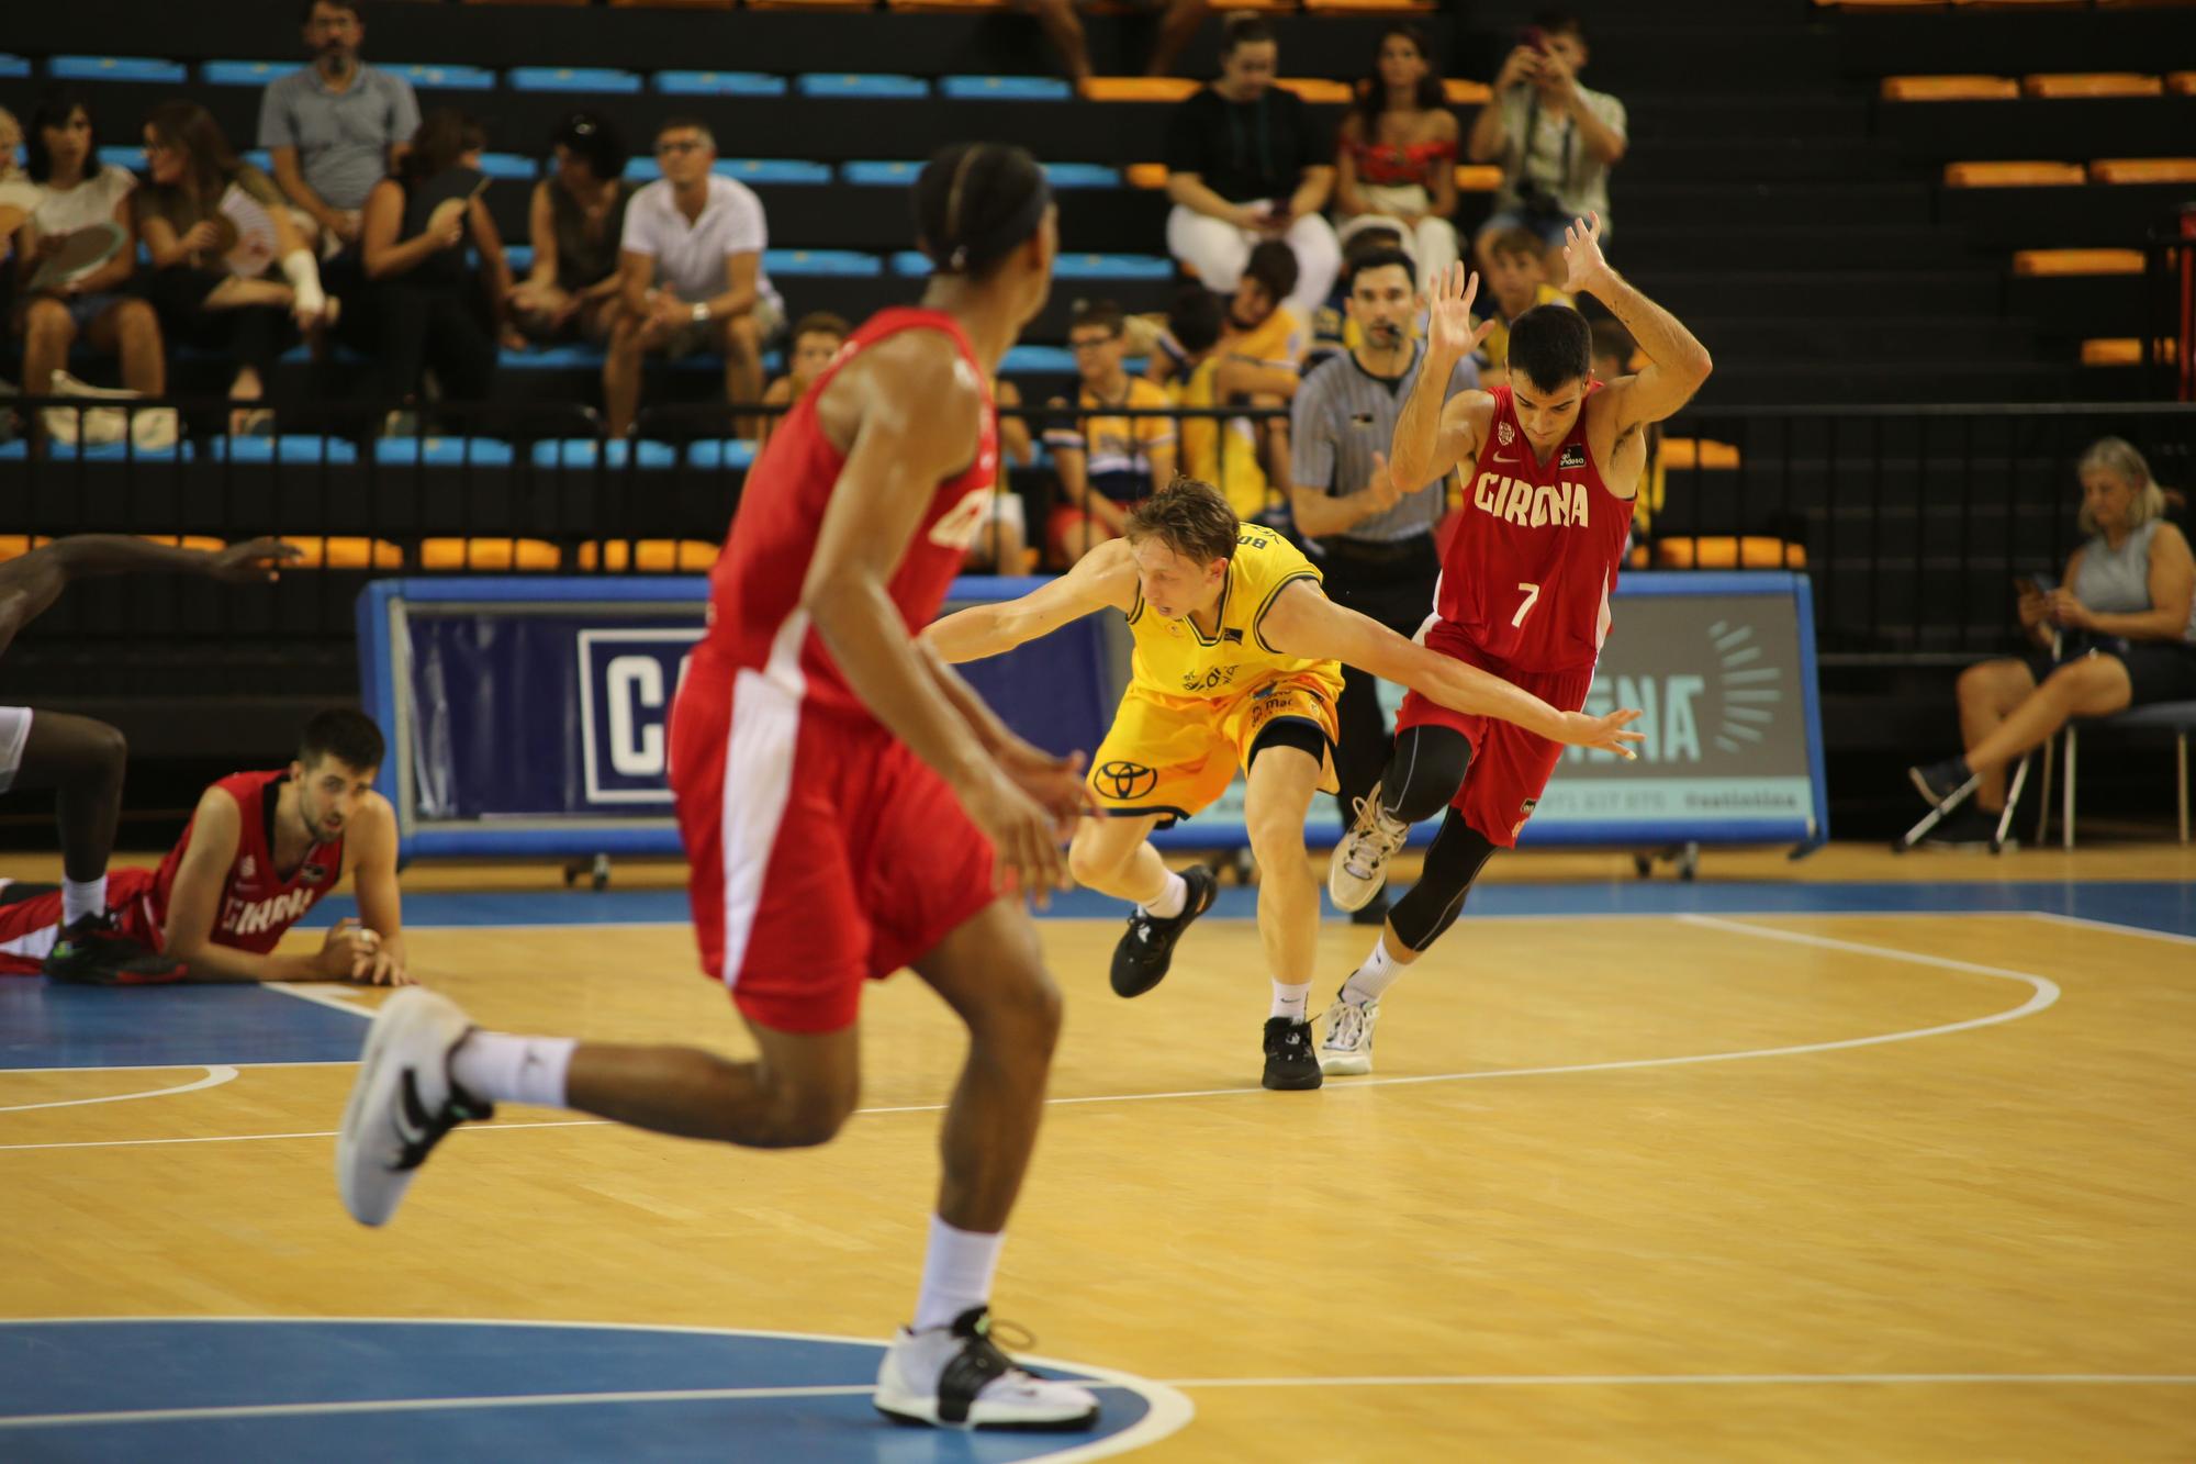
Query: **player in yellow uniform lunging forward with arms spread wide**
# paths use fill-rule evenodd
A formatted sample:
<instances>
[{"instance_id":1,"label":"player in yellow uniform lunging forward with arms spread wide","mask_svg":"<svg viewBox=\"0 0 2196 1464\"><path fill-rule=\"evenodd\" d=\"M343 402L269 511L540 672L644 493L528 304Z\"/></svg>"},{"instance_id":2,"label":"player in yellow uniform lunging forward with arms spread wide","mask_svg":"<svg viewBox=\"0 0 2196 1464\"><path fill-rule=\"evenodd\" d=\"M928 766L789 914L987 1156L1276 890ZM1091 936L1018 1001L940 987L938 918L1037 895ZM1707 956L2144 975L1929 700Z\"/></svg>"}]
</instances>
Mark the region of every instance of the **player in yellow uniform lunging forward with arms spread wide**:
<instances>
[{"instance_id":1,"label":"player in yellow uniform lunging forward with arms spread wide","mask_svg":"<svg viewBox=\"0 0 2196 1464\"><path fill-rule=\"evenodd\" d=\"M1258 936L1274 978L1265 1086L1318 1088L1304 1002L1320 930L1320 888L1304 857L1304 813L1335 789L1342 662L1460 712L1500 717L1559 743L1629 756L1638 712L1559 712L1539 697L1342 609L1320 572L1280 534L1239 523L1212 484L1177 477L1135 506L1127 536L1091 550L1041 589L946 615L929 640L949 662L999 655L1069 620L1113 607L1135 637L1133 675L1113 730L1091 758L1105 818L1067 851L1080 884L1135 901L1113 950L1113 989L1159 985L1181 932L1212 906L1217 881L1168 873L1146 838L1217 800L1241 765L1258 881Z\"/></svg>"}]
</instances>

